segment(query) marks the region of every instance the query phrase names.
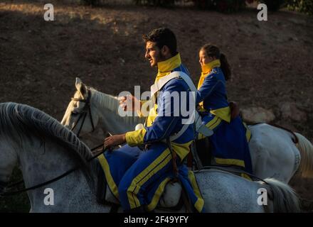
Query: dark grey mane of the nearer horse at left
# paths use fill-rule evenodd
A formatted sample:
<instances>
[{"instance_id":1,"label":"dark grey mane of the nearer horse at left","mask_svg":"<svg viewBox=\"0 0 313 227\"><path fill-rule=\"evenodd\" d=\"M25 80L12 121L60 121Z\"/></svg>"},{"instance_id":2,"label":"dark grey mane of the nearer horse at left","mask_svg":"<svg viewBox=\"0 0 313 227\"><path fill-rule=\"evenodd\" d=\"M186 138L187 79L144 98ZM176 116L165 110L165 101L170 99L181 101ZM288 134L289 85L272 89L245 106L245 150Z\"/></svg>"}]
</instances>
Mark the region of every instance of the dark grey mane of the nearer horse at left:
<instances>
[{"instance_id":1,"label":"dark grey mane of the nearer horse at left","mask_svg":"<svg viewBox=\"0 0 313 227\"><path fill-rule=\"evenodd\" d=\"M25 104L12 102L0 104L0 135L16 140L22 135L31 138L35 135L43 140L44 137L55 140L65 146L75 161L87 167L87 159L92 157L90 149L81 142L72 131L61 125L55 118Z\"/></svg>"}]
</instances>

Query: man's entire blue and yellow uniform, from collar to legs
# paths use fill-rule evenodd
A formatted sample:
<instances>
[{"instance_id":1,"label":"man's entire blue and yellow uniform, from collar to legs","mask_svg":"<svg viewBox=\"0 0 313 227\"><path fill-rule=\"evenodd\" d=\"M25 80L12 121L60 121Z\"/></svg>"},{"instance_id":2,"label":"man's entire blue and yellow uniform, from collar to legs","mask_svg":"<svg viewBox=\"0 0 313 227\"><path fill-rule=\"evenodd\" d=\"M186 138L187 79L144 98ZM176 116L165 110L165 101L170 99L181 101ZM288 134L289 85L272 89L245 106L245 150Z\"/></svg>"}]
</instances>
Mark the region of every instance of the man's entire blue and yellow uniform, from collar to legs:
<instances>
[{"instance_id":1,"label":"man's entire blue and yellow uniform, from collar to legs","mask_svg":"<svg viewBox=\"0 0 313 227\"><path fill-rule=\"evenodd\" d=\"M164 62L158 62L156 82L174 71L189 74L181 64L179 53ZM154 108L149 110L144 128L126 133L127 145L100 157L109 187L120 199L124 210L135 209L139 206L146 206L148 210L153 210L159 202L166 183L174 178L172 154L166 143L162 141L181 131L184 126L182 124L184 117L180 113L179 116L174 116L174 106L176 106L174 99L166 98L164 92L170 94L178 92L177 94L180 95L180 92L189 90L183 79L169 80L159 91ZM166 109L169 106L171 106L171 114L169 114L169 109ZM200 212L203 210L204 201L196 179L193 172L188 171L182 163L190 152L189 145L194 136L193 126L190 125L179 138L171 142L171 148L178 157L176 164L179 168L182 186L189 194L196 210ZM127 154L129 146L135 147L132 149L139 149L136 147L138 145L148 145L148 149L139 157Z\"/></svg>"}]
</instances>

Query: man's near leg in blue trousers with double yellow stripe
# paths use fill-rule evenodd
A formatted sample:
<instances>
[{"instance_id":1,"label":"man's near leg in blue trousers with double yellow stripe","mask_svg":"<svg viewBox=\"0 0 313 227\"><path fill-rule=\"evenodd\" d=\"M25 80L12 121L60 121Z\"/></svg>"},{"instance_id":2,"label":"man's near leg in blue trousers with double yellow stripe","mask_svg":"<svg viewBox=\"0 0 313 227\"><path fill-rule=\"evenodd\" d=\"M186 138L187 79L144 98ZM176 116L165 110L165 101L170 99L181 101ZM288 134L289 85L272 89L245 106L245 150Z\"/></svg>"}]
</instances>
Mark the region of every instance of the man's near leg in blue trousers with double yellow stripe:
<instances>
[{"instance_id":1,"label":"man's near leg in blue trousers with double yellow stripe","mask_svg":"<svg viewBox=\"0 0 313 227\"><path fill-rule=\"evenodd\" d=\"M124 210L135 209L149 205L153 201L161 182L166 176L172 175L173 164L171 152L161 143L156 143L146 152L139 155L137 160L124 173L118 186L120 202Z\"/></svg>"}]
</instances>

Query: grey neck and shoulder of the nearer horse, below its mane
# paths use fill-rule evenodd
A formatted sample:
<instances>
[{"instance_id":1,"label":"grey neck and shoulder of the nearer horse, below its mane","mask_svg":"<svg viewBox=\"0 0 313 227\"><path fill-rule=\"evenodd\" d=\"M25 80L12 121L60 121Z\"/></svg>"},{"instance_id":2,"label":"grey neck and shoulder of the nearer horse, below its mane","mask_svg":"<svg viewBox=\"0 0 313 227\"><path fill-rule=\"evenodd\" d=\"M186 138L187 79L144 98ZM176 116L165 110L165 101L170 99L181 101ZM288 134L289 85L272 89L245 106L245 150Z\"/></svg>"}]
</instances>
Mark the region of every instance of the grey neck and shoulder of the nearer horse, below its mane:
<instances>
[{"instance_id":1,"label":"grey neck and shoulder of the nearer horse, below its mane","mask_svg":"<svg viewBox=\"0 0 313 227\"><path fill-rule=\"evenodd\" d=\"M44 144L39 141L23 144L18 156L25 187L41 184L75 167L74 160L67 155L69 152L52 140L45 140ZM53 190L54 205L44 203L48 196L45 189ZM28 197L32 212L107 211L107 207L97 204L93 191L83 171L77 170L56 182L28 191Z\"/></svg>"}]
</instances>

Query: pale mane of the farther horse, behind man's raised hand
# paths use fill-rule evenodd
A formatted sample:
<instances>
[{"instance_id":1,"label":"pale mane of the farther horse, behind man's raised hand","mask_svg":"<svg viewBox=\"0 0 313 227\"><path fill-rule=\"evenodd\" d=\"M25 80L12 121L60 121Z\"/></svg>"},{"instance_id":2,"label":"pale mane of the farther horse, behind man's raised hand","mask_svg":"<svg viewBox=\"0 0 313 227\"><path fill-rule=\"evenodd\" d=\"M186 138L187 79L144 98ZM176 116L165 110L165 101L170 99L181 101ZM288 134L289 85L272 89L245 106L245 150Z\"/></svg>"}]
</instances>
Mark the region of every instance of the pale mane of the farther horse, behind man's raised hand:
<instances>
[{"instance_id":1,"label":"pale mane of the farther horse, behind man's raised hand","mask_svg":"<svg viewBox=\"0 0 313 227\"><path fill-rule=\"evenodd\" d=\"M100 108L108 109L115 115L117 116L119 115L118 109L120 107L120 103L117 99L117 96L112 96L110 94L99 92L92 87L87 87L87 89L90 89L90 92L92 92L92 98L95 99L95 101L100 104ZM127 125L134 125L139 123L139 121L144 120L144 119L141 120L139 116L124 116L124 117L121 116L121 119Z\"/></svg>"}]
</instances>

